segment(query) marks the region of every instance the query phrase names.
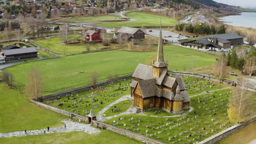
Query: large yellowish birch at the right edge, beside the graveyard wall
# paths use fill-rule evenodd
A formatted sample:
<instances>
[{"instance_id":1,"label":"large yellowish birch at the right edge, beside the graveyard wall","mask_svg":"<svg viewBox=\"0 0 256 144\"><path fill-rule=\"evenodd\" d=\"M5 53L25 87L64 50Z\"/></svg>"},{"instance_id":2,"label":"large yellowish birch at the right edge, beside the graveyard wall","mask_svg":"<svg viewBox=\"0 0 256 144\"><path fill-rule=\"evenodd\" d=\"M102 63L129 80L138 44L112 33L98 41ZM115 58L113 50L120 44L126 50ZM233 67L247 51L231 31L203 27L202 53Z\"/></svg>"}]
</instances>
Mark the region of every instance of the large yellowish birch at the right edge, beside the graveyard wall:
<instances>
[{"instance_id":1,"label":"large yellowish birch at the right edge, beside the graveyard wall","mask_svg":"<svg viewBox=\"0 0 256 144\"><path fill-rule=\"evenodd\" d=\"M238 80L240 88L236 87L229 98L228 116L231 122L245 122L255 115L253 92L246 90L247 80Z\"/></svg>"}]
</instances>

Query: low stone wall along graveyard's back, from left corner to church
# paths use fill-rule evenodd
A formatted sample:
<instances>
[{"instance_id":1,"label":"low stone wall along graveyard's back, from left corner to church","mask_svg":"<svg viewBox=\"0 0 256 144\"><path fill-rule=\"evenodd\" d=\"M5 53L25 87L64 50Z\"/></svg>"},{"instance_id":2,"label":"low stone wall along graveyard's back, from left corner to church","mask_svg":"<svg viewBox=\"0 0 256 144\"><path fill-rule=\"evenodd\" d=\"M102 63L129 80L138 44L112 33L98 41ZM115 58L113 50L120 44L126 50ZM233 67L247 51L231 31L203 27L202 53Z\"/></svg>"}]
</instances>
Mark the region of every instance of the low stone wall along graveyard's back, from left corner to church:
<instances>
[{"instance_id":1,"label":"low stone wall along graveyard's back, from left corner to church","mask_svg":"<svg viewBox=\"0 0 256 144\"><path fill-rule=\"evenodd\" d=\"M69 93L69 94L78 93L78 92L82 92L82 91L85 91L85 90L88 90L88 89L91 89L91 88L94 88L94 87L104 86L104 85L107 85L108 83L117 82L117 81L121 81L121 80L124 80L124 79L129 79L131 77L132 77L132 75L126 75L126 76L118 77L116 79L98 82L98 83L96 83L95 86L94 85L86 85L86 86L82 86L82 87L78 87L78 88L68 89L67 91L62 91L62 92L59 92L59 93L45 95L42 98L39 98L39 101L53 100L53 99L56 99L57 97L64 96L67 93Z\"/></svg>"}]
</instances>

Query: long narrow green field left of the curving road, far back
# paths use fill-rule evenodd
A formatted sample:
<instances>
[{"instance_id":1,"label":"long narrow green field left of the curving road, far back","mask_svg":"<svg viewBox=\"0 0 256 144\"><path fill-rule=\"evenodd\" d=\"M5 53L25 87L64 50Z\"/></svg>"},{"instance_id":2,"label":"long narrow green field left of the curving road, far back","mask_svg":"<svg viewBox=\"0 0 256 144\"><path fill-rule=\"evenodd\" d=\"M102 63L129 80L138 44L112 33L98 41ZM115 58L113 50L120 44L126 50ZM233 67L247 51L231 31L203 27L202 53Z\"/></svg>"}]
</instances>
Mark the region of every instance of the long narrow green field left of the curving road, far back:
<instances>
[{"instance_id":1,"label":"long narrow green field left of the curving road, far back","mask_svg":"<svg viewBox=\"0 0 256 144\"><path fill-rule=\"evenodd\" d=\"M125 19L116 19L118 15L88 16L88 17L72 17L60 20L59 22L104 22L104 21L124 21Z\"/></svg>"}]
</instances>

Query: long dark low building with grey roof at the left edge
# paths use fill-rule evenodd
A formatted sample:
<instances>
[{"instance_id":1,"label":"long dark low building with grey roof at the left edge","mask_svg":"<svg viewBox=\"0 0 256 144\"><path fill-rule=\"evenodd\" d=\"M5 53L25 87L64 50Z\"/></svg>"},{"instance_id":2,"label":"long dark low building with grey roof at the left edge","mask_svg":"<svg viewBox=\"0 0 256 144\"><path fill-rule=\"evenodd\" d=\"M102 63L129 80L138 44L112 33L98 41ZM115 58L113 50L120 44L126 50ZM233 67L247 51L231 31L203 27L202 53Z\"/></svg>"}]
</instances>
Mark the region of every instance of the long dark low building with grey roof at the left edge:
<instances>
[{"instance_id":1,"label":"long dark low building with grey roof at the left edge","mask_svg":"<svg viewBox=\"0 0 256 144\"><path fill-rule=\"evenodd\" d=\"M34 47L2 50L5 61L15 61L19 59L36 58L37 50ZM0 53L0 54L1 54Z\"/></svg>"}]
</instances>

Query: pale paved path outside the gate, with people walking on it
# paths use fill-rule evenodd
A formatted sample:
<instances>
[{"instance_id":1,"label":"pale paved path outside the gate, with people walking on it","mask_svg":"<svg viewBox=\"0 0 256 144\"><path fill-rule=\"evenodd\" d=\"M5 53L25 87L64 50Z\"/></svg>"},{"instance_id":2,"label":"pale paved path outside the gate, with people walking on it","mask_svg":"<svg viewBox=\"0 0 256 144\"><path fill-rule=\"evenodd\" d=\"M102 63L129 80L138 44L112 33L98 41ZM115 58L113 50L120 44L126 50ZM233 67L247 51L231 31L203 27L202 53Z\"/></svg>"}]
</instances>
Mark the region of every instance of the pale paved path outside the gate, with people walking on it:
<instances>
[{"instance_id":1,"label":"pale paved path outside the gate, with people walking on it","mask_svg":"<svg viewBox=\"0 0 256 144\"><path fill-rule=\"evenodd\" d=\"M0 137L42 135L42 134L44 134L44 130L45 130L46 134L69 132L69 131L83 131L90 135L94 135L94 134L101 132L100 130L91 127L91 124L83 124L83 123L73 122L70 119L64 119L61 122L66 124L66 128L63 125L63 127L60 127L60 128L50 128L49 131L47 131L47 128L39 129L39 130L27 130L27 134L25 134L25 131L14 131L14 132L9 132L9 133L0 133Z\"/></svg>"}]
</instances>

